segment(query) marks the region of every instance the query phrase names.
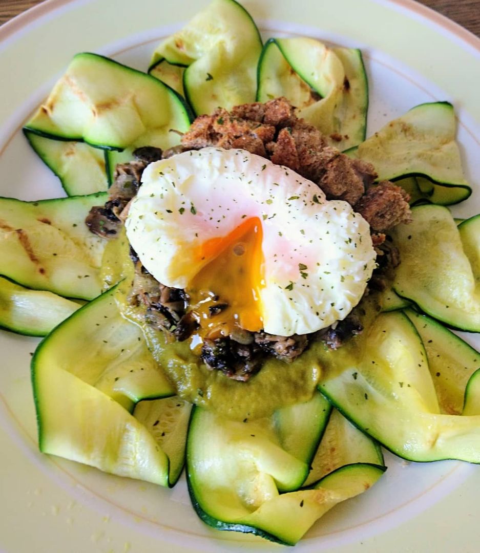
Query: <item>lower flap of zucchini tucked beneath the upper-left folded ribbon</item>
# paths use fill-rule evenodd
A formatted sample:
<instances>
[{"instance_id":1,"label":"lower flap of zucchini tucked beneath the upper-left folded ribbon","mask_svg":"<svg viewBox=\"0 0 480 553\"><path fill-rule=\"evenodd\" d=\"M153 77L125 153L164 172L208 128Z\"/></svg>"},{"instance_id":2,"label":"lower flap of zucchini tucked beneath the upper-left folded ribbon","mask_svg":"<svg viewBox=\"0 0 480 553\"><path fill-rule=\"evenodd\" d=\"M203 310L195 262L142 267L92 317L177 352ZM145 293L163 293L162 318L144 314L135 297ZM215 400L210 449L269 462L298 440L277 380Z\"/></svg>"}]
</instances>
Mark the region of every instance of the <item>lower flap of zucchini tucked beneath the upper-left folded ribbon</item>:
<instances>
[{"instance_id":1,"label":"lower flap of zucchini tucked beneath the upper-left folded ribbon","mask_svg":"<svg viewBox=\"0 0 480 553\"><path fill-rule=\"evenodd\" d=\"M24 131L28 142L60 179L68 196L82 196L108 189L104 150L83 142L53 140Z\"/></svg>"}]
</instances>

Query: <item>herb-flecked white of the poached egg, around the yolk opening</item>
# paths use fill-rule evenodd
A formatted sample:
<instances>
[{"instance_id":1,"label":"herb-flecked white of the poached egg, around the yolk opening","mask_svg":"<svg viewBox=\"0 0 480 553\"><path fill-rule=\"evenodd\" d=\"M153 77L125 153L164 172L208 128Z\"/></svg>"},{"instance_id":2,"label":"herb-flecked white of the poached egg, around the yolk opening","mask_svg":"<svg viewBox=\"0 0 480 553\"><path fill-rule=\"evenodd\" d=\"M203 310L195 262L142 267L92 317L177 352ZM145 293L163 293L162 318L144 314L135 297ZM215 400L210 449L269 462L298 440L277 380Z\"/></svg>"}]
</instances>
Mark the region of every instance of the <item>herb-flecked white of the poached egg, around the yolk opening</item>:
<instances>
[{"instance_id":1,"label":"herb-flecked white of the poached egg, around the yolk opening","mask_svg":"<svg viewBox=\"0 0 480 553\"><path fill-rule=\"evenodd\" d=\"M343 320L375 267L369 225L347 202L244 150L205 148L150 164L126 229L145 268L186 288L208 263L196 252L246 217L262 222L265 332L290 336Z\"/></svg>"}]
</instances>

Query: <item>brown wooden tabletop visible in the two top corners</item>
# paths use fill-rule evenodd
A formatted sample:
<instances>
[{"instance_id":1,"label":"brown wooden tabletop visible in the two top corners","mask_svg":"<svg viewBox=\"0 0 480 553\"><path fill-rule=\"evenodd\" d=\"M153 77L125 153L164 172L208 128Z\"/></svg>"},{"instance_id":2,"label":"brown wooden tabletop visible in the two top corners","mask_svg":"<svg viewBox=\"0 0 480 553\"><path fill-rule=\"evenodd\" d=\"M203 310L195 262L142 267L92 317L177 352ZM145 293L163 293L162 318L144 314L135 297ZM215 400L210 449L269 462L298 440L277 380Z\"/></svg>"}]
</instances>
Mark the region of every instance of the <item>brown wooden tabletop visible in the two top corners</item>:
<instances>
[{"instance_id":1,"label":"brown wooden tabletop visible in the two top corners","mask_svg":"<svg viewBox=\"0 0 480 553\"><path fill-rule=\"evenodd\" d=\"M0 0L0 25L39 3L40 0ZM480 0L422 0L420 3L480 36Z\"/></svg>"}]
</instances>

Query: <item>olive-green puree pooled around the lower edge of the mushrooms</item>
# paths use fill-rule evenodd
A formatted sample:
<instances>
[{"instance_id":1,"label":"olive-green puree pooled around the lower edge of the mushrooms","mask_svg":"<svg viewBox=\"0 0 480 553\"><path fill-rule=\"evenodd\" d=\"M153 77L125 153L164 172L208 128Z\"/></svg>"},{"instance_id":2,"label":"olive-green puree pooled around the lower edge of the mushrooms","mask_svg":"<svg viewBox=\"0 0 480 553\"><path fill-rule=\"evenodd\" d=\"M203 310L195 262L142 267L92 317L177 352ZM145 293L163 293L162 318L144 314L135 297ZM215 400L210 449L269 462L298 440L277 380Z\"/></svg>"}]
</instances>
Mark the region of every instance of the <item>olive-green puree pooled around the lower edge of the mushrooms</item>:
<instances>
[{"instance_id":1,"label":"olive-green puree pooled around the lower edge of the mushrooms","mask_svg":"<svg viewBox=\"0 0 480 553\"><path fill-rule=\"evenodd\" d=\"M122 314L142 327L150 352L178 395L234 420L257 419L274 410L309 400L322 378L322 364L331 356L323 342L313 342L292 363L269 358L247 382L210 371L190 349L188 342L168 343L163 332L144 322L141 307L129 305L127 296L133 278L133 264L124 237L108 244L103 259L106 285L124 278L117 302Z\"/></svg>"}]
</instances>

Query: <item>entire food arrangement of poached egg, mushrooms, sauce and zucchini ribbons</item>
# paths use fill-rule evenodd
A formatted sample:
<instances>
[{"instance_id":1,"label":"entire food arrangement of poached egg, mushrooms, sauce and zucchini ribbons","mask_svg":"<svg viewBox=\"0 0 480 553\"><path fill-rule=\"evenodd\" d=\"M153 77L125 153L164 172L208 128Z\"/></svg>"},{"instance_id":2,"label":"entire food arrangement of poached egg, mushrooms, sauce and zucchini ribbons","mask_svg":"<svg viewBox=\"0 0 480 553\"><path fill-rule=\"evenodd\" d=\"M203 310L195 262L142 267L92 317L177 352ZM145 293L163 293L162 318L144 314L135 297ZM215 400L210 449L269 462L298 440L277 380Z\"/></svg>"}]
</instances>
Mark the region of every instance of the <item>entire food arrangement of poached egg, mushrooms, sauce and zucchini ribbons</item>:
<instances>
[{"instance_id":1,"label":"entire food arrangement of poached egg, mushrooms, sauce and zucchini ribbons","mask_svg":"<svg viewBox=\"0 0 480 553\"><path fill-rule=\"evenodd\" d=\"M66 197L0 198L40 450L164 487L185 467L206 524L286 545L382 486L382 448L480 463L452 104L367 133L361 51L263 43L235 0L148 62L75 55L23 128Z\"/></svg>"}]
</instances>

